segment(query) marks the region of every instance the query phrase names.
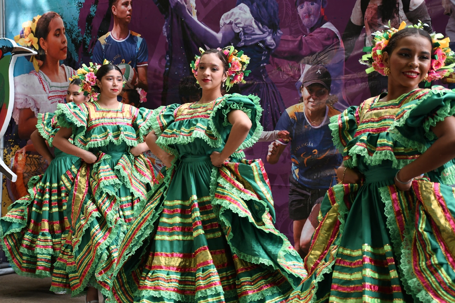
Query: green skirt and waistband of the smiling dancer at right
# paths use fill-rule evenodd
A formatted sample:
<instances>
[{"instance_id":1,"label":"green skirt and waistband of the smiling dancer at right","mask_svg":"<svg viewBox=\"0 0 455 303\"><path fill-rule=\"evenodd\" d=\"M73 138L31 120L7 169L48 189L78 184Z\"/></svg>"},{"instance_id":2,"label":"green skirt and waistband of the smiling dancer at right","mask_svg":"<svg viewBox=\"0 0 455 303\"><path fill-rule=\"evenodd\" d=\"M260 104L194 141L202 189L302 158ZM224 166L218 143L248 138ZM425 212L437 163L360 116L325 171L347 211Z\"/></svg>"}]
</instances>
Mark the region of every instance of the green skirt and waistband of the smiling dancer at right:
<instances>
[{"instance_id":1,"label":"green skirt and waistband of the smiling dancer at right","mask_svg":"<svg viewBox=\"0 0 455 303\"><path fill-rule=\"evenodd\" d=\"M455 298L455 194L427 179L394 186L396 169L329 189L290 302L443 303Z\"/></svg>"}]
</instances>

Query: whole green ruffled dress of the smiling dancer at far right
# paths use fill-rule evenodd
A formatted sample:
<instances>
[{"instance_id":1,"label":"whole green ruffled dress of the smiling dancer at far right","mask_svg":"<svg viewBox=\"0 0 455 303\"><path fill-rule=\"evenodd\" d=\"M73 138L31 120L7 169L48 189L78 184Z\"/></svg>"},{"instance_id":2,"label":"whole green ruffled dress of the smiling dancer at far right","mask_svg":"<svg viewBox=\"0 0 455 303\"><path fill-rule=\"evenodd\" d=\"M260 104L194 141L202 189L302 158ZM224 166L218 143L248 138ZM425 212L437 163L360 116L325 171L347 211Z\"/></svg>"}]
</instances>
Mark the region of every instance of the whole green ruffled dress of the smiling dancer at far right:
<instances>
[{"instance_id":1,"label":"whole green ruffled dress of the smiling dancer at far right","mask_svg":"<svg viewBox=\"0 0 455 303\"><path fill-rule=\"evenodd\" d=\"M331 119L344 164L365 181L329 189L304 262L308 276L289 302L455 300L455 194L445 185L455 184L453 161L408 192L394 186L398 169L437 139L431 127L455 114L455 93L434 86L379 98Z\"/></svg>"}]
</instances>

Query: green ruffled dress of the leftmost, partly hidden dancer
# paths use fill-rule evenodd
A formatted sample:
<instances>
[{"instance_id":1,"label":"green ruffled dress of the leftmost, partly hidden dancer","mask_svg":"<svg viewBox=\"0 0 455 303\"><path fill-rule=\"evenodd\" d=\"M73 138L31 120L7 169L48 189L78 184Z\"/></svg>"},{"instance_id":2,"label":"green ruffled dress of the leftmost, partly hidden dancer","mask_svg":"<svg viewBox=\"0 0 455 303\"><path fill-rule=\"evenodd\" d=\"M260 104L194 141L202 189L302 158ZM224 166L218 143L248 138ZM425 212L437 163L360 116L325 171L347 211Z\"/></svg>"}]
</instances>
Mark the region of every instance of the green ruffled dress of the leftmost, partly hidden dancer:
<instances>
[{"instance_id":1,"label":"green ruffled dress of the leftmost, partly hidden dancer","mask_svg":"<svg viewBox=\"0 0 455 303\"><path fill-rule=\"evenodd\" d=\"M54 113L38 114L36 127L52 147L60 128ZM69 287L65 271L53 264L70 228L66 202L71 184L64 174L73 165L80 165L78 157L55 149L55 158L45 173L30 179L29 194L15 201L0 219L1 243L16 273L37 278L52 276L52 290Z\"/></svg>"}]
</instances>

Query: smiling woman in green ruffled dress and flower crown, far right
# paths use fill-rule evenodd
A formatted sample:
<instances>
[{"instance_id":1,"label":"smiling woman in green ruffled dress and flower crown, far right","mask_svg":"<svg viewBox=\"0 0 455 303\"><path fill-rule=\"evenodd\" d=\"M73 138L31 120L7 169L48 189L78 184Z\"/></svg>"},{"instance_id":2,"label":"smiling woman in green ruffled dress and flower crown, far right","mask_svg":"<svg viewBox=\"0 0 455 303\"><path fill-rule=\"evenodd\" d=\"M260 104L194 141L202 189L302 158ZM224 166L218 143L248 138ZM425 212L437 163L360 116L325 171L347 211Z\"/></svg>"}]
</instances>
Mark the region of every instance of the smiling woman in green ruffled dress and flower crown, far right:
<instances>
[{"instance_id":1,"label":"smiling woman in green ruffled dress and flower crown, far right","mask_svg":"<svg viewBox=\"0 0 455 303\"><path fill-rule=\"evenodd\" d=\"M419 88L447 74L453 52L415 27L376 37L373 68L389 76L388 93L331 119L342 183L321 204L290 302L454 298L455 93Z\"/></svg>"}]
</instances>

